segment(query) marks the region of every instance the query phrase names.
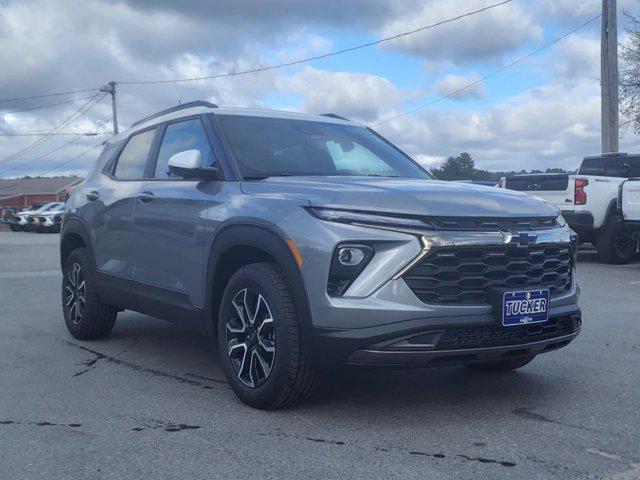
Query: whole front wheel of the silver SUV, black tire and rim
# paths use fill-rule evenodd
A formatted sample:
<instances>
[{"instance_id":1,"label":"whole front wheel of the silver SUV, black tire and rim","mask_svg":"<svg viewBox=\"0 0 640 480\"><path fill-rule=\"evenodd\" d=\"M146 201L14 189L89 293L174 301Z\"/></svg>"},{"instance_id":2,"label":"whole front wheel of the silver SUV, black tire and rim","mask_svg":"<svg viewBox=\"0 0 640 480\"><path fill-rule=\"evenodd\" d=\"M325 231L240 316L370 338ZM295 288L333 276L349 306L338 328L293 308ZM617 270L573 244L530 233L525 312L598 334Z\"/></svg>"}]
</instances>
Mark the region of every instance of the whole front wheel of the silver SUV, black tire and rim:
<instances>
[{"instance_id":1,"label":"whole front wheel of the silver SUV, black tire and rim","mask_svg":"<svg viewBox=\"0 0 640 480\"><path fill-rule=\"evenodd\" d=\"M309 395L317 372L304 354L293 298L278 265L254 263L236 271L219 311L220 361L240 400L274 410Z\"/></svg>"}]
</instances>

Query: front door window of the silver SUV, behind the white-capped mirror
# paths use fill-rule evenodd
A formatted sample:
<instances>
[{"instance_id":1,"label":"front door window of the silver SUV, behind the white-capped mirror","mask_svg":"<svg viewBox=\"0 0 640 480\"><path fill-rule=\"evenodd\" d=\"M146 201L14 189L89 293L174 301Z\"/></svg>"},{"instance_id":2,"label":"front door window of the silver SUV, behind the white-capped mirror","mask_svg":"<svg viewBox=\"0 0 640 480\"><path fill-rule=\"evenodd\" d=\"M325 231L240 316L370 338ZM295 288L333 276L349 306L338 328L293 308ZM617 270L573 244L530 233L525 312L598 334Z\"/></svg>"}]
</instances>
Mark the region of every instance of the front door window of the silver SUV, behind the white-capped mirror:
<instances>
[{"instance_id":1,"label":"front door window of the silver SUV, behind the white-capped mirror","mask_svg":"<svg viewBox=\"0 0 640 480\"><path fill-rule=\"evenodd\" d=\"M176 178L169 171L169 159L176 153L185 150L199 150L202 155L202 166L213 165L213 153L209 139L199 119L170 123L164 132L154 178Z\"/></svg>"}]
</instances>

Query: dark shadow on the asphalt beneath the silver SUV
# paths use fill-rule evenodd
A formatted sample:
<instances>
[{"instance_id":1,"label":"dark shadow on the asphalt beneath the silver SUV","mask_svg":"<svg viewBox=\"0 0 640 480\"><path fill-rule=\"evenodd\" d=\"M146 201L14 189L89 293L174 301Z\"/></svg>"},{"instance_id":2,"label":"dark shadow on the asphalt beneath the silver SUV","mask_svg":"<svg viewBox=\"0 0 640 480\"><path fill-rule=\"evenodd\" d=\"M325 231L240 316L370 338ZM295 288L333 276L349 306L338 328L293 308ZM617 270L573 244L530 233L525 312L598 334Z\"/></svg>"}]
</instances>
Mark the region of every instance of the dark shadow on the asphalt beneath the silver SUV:
<instances>
[{"instance_id":1,"label":"dark shadow on the asphalt beneath the silver SUV","mask_svg":"<svg viewBox=\"0 0 640 480\"><path fill-rule=\"evenodd\" d=\"M215 341L144 315L127 312L122 317L105 342L109 354L119 356L117 361L126 359L134 365L165 371L167 377L200 379L203 385L226 383ZM102 350L97 344L92 345ZM337 408L336 415L353 409L384 411L416 405L449 413L467 407L515 410L535 405L543 398L572 394L567 390L575 385L548 374L549 365L561 354L546 354L519 371L494 374L473 372L465 367L347 366L323 372L315 393L292 409ZM230 389L216 389L212 394L227 396L225 401L234 399Z\"/></svg>"}]
</instances>

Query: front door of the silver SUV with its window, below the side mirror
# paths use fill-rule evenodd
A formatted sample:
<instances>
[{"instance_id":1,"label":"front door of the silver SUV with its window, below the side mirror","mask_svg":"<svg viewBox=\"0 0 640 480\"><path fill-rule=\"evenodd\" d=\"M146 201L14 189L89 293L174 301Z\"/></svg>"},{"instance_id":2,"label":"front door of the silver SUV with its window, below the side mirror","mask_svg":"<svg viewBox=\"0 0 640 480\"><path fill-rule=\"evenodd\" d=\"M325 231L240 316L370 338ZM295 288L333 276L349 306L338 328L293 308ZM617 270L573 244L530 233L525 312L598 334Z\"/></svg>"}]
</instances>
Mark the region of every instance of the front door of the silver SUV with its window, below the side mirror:
<instances>
[{"instance_id":1,"label":"front door of the silver SUV with its window, below the side mirror","mask_svg":"<svg viewBox=\"0 0 640 480\"><path fill-rule=\"evenodd\" d=\"M169 172L169 158L191 149L200 151L203 166L213 165L213 150L199 117L168 123L160 136L155 161L136 199L135 292L144 312L186 319L186 313L196 313L204 304L204 212L219 203L221 182L184 180Z\"/></svg>"}]
</instances>

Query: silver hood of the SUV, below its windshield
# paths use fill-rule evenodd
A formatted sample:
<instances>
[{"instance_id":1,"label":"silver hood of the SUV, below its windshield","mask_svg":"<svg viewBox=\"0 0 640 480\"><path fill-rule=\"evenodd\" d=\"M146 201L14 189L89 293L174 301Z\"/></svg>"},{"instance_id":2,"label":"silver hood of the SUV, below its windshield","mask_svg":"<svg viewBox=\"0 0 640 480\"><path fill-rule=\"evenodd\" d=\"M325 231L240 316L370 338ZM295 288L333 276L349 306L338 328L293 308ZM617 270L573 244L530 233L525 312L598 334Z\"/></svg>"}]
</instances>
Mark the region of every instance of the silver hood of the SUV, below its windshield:
<instances>
[{"instance_id":1,"label":"silver hood of the SUV, below its windshield","mask_svg":"<svg viewBox=\"0 0 640 480\"><path fill-rule=\"evenodd\" d=\"M248 195L287 198L310 206L428 216L555 216L549 203L496 187L382 177L270 177L243 182Z\"/></svg>"}]
</instances>

